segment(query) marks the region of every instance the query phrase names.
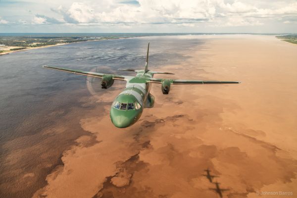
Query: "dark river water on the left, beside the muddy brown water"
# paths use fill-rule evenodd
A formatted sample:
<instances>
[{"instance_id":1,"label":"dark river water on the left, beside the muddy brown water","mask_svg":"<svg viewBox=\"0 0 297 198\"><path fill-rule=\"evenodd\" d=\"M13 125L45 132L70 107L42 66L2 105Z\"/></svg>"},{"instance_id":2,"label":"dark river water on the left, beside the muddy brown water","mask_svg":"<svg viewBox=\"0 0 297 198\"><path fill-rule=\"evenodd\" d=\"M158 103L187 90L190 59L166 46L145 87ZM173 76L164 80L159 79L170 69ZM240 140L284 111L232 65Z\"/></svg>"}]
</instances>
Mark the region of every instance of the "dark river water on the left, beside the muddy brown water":
<instances>
[{"instance_id":1,"label":"dark river water on the left, beside the muddy brown water","mask_svg":"<svg viewBox=\"0 0 297 198\"><path fill-rule=\"evenodd\" d=\"M100 73L133 75L117 69L143 69L148 41L150 69L185 61L188 50L204 43L175 36L150 36L82 42L0 56L0 197L31 197L44 186L46 175L60 163L63 150L86 133L79 126L79 116L99 105L82 104L83 97L92 97L86 89L86 77L48 70L42 65L86 71L97 68ZM42 133L61 122L66 135ZM18 158L11 160L16 152ZM39 161L45 153L46 160ZM43 167L44 161L50 166ZM35 176L32 184L26 186L21 178L28 172L34 172Z\"/></svg>"}]
</instances>

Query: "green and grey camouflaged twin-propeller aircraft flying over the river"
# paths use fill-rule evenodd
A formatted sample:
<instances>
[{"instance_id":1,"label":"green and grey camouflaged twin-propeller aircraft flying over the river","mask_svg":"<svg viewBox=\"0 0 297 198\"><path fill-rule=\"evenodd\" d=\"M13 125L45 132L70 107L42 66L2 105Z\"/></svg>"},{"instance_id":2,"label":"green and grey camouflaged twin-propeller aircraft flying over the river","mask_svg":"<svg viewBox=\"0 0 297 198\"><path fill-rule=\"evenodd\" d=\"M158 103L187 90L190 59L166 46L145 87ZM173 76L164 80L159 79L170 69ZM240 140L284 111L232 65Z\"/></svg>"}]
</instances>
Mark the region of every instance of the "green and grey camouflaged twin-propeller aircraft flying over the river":
<instances>
[{"instance_id":1,"label":"green and grey camouflaged twin-propeller aircraft flying over the river","mask_svg":"<svg viewBox=\"0 0 297 198\"><path fill-rule=\"evenodd\" d=\"M148 43L149 49L149 43ZM170 85L190 85L190 84L235 84L235 81L198 81L198 80L174 80L153 78L154 74L173 74L169 72L158 72L148 70L148 52L145 69L119 69L124 71L137 72L136 76L123 76L114 74L103 74L97 72L88 72L60 67L51 67L43 65L49 69L69 72L101 78L101 88L107 89L112 86L114 80L126 81L126 88L113 101L110 108L110 118L114 126L126 128L133 125L141 116L144 108L151 108L154 105L154 96L149 91L152 83L162 84L163 94L168 94Z\"/></svg>"}]
</instances>

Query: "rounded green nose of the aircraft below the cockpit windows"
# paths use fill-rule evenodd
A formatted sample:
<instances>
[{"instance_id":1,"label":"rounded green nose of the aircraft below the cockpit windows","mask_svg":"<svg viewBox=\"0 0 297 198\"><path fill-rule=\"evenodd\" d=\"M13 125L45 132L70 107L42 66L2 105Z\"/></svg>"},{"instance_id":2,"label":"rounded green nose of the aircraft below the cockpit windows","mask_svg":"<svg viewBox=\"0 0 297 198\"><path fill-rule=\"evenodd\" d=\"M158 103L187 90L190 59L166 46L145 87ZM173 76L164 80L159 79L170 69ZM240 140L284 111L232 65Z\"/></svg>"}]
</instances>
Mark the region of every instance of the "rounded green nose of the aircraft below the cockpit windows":
<instances>
[{"instance_id":1,"label":"rounded green nose of the aircraft below the cockpit windows","mask_svg":"<svg viewBox=\"0 0 297 198\"><path fill-rule=\"evenodd\" d=\"M130 112L120 111L114 108L110 110L110 118L114 126L117 128L126 128L131 126L138 117L137 114L132 115Z\"/></svg>"}]
</instances>

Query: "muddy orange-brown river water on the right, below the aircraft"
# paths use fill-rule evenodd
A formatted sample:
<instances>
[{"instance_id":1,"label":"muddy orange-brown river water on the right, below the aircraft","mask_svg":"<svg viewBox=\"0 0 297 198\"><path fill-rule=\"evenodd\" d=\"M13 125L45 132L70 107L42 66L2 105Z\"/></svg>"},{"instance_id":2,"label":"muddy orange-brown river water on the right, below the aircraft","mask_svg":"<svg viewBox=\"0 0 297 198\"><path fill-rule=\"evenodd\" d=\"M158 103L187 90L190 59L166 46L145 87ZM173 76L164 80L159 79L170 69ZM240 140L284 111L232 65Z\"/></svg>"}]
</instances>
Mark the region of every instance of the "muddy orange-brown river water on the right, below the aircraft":
<instances>
[{"instance_id":1,"label":"muddy orange-brown river water on the right, below the aircraft","mask_svg":"<svg viewBox=\"0 0 297 198\"><path fill-rule=\"evenodd\" d=\"M190 58L182 64L157 69L176 79L242 83L176 85L169 95L152 85L154 108L126 129L109 118L109 104L124 87L115 83L98 99L109 102L104 110L80 120L96 142L78 138L33 197L213 198L214 184L201 175L207 167L229 189L224 197L296 196L297 46L274 36L193 37L206 42L185 51Z\"/></svg>"}]
</instances>

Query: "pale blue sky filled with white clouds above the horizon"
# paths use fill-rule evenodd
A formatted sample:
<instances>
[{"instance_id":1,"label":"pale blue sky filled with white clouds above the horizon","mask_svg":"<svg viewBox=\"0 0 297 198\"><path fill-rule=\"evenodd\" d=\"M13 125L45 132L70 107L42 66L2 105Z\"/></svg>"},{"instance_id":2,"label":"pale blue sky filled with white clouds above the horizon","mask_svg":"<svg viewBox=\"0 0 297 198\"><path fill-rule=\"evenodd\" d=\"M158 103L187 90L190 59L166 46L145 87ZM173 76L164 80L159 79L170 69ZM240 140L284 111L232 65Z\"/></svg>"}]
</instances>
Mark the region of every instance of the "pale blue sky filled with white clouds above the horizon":
<instances>
[{"instance_id":1,"label":"pale blue sky filled with white clouds above the horizon","mask_svg":"<svg viewBox=\"0 0 297 198\"><path fill-rule=\"evenodd\" d=\"M297 33L297 0L0 0L1 33Z\"/></svg>"}]
</instances>

